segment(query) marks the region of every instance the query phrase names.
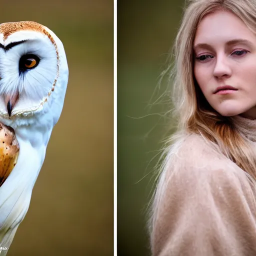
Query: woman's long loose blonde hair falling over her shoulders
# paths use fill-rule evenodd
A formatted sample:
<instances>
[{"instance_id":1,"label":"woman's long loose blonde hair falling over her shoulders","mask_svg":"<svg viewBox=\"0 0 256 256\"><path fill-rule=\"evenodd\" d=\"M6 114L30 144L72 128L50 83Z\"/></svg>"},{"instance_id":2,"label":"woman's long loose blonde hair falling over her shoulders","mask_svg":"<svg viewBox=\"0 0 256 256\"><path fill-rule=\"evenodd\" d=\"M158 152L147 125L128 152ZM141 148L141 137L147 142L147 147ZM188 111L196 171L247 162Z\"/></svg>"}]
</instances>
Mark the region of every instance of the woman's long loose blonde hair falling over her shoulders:
<instances>
[{"instance_id":1,"label":"woman's long loose blonde hair falling over her shoulders","mask_svg":"<svg viewBox=\"0 0 256 256\"><path fill-rule=\"evenodd\" d=\"M193 76L193 40L200 20L219 10L239 17L256 34L255 0L188 0L173 45L174 64L166 70L172 81L173 115L177 131L167 139L158 169L158 183L151 204L149 229L154 226L157 203L163 192L164 175L170 158L189 133L201 135L216 151L224 154L256 180L256 156L247 130L235 125L232 117L216 112L205 99ZM150 231L151 232L151 231Z\"/></svg>"}]
</instances>

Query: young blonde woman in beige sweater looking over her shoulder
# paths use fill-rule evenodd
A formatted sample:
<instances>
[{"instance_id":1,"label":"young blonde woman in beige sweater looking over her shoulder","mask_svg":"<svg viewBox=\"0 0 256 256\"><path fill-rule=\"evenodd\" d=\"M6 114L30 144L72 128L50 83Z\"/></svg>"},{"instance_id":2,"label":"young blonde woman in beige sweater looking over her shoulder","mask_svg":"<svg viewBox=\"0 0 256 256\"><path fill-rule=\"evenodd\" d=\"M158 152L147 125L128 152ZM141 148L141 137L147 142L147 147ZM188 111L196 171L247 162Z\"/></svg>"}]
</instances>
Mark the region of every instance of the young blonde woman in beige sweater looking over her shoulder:
<instances>
[{"instance_id":1,"label":"young blonde woman in beige sweater looking over her shoulder","mask_svg":"<svg viewBox=\"0 0 256 256\"><path fill-rule=\"evenodd\" d=\"M152 254L256 255L256 0L190 0L174 48Z\"/></svg>"}]
</instances>

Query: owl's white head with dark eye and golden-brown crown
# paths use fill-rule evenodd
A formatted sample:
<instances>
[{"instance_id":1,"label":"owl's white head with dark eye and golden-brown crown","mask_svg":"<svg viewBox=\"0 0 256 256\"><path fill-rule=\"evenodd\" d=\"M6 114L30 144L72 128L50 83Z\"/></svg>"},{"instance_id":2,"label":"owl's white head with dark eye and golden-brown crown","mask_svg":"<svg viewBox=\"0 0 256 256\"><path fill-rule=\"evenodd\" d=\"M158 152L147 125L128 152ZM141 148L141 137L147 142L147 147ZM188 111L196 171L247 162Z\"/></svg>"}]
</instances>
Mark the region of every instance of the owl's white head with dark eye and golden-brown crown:
<instances>
[{"instance_id":1,"label":"owl's white head with dark eye and golden-brown crown","mask_svg":"<svg viewBox=\"0 0 256 256\"><path fill-rule=\"evenodd\" d=\"M68 66L64 47L47 27L33 21L0 24L0 121L29 123L62 110Z\"/></svg>"}]
</instances>

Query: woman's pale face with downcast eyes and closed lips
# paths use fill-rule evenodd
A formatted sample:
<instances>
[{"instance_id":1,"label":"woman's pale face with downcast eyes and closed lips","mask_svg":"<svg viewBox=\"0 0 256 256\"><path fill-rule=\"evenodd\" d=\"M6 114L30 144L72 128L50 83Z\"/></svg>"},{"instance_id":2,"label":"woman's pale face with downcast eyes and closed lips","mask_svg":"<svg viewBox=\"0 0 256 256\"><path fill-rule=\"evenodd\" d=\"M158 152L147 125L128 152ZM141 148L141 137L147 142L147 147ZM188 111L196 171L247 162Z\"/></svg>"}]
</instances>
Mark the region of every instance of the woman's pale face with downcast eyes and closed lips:
<instances>
[{"instance_id":1,"label":"woman's pale face with downcast eyes and closed lips","mask_svg":"<svg viewBox=\"0 0 256 256\"><path fill-rule=\"evenodd\" d=\"M230 12L208 14L193 49L194 76L209 104L224 116L256 118L256 36L248 27ZM233 88L216 92L219 86Z\"/></svg>"}]
</instances>

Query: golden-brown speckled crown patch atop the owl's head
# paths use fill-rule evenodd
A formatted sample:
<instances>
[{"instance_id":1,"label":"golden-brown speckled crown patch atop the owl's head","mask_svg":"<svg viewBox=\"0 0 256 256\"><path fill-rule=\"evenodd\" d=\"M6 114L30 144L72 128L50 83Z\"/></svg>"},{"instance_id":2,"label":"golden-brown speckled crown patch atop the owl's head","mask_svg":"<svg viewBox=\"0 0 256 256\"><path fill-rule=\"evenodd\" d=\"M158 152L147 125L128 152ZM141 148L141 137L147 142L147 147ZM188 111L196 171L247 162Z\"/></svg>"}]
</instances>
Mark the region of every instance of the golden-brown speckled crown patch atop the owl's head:
<instances>
[{"instance_id":1,"label":"golden-brown speckled crown patch atop the owl's head","mask_svg":"<svg viewBox=\"0 0 256 256\"><path fill-rule=\"evenodd\" d=\"M34 30L42 33L46 32L41 24L34 21L19 21L0 24L0 33L3 35L4 40L12 33L20 30Z\"/></svg>"}]
</instances>

